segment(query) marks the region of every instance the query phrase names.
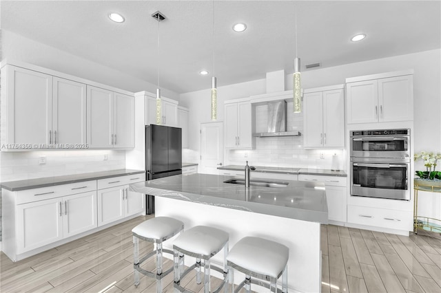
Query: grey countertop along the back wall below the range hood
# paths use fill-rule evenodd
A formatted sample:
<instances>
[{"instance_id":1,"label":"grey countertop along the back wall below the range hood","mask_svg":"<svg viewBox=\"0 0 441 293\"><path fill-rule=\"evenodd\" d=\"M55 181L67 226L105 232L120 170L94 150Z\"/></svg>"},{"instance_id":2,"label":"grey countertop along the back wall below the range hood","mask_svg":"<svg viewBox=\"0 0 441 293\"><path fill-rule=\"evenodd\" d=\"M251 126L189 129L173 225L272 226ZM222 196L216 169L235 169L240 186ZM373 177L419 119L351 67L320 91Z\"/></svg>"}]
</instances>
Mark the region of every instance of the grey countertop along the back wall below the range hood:
<instances>
[{"instance_id":1,"label":"grey countertop along the back wall below the range hood","mask_svg":"<svg viewBox=\"0 0 441 293\"><path fill-rule=\"evenodd\" d=\"M251 166L251 165L250 165ZM245 166L240 165L227 165L218 167L219 170L234 170L243 171ZM345 171L331 171L329 169L301 169L301 168L283 168L283 167L265 167L265 166L254 166L256 170L253 172L262 173L284 173L284 174L306 174L306 175L327 175L327 176L338 176L347 177Z\"/></svg>"}]
</instances>

